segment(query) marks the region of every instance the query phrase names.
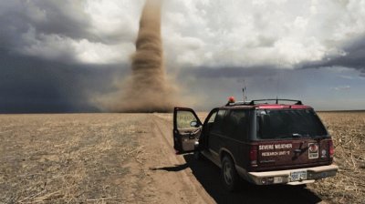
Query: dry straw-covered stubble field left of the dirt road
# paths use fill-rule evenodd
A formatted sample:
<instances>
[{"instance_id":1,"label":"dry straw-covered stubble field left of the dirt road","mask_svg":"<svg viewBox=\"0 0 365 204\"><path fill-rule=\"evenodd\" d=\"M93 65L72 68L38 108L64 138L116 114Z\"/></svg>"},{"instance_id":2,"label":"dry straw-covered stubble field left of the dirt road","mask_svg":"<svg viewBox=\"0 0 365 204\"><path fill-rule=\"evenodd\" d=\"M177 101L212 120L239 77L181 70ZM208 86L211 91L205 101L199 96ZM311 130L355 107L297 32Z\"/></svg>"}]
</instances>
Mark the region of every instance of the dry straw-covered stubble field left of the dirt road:
<instances>
[{"instance_id":1,"label":"dry straw-covered stubble field left of the dirt road","mask_svg":"<svg viewBox=\"0 0 365 204\"><path fill-rule=\"evenodd\" d=\"M103 203L128 199L138 147L130 115L0 116L0 203ZM130 176L130 175L129 175Z\"/></svg>"}]
</instances>

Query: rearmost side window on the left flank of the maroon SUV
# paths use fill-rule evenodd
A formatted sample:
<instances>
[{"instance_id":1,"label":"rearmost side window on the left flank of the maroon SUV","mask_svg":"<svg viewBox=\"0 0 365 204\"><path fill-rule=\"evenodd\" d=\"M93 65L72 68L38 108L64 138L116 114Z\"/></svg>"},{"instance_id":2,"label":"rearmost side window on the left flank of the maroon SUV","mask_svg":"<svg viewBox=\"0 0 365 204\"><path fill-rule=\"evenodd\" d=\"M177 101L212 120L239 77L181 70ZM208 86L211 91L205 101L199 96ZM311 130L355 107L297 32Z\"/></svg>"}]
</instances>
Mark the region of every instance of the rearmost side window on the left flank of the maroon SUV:
<instances>
[{"instance_id":1,"label":"rearmost side window on the left flank of the maroon SUV","mask_svg":"<svg viewBox=\"0 0 365 204\"><path fill-rule=\"evenodd\" d=\"M224 125L224 135L239 141L247 138L248 135L248 110L232 110Z\"/></svg>"}]
</instances>

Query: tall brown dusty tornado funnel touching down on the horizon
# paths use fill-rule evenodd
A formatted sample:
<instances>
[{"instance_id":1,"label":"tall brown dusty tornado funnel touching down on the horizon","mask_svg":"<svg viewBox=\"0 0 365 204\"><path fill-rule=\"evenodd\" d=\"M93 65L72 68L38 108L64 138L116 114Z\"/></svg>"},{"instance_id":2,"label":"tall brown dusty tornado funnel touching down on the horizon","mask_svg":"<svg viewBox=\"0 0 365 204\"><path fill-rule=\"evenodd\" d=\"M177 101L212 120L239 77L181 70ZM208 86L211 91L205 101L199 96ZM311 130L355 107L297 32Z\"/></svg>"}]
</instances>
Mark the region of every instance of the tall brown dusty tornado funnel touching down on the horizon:
<instances>
[{"instance_id":1,"label":"tall brown dusty tornado funnel touching down on the horizon","mask_svg":"<svg viewBox=\"0 0 365 204\"><path fill-rule=\"evenodd\" d=\"M131 56L131 76L117 107L118 112L170 112L172 87L166 78L162 36L162 1L146 0Z\"/></svg>"}]
</instances>

